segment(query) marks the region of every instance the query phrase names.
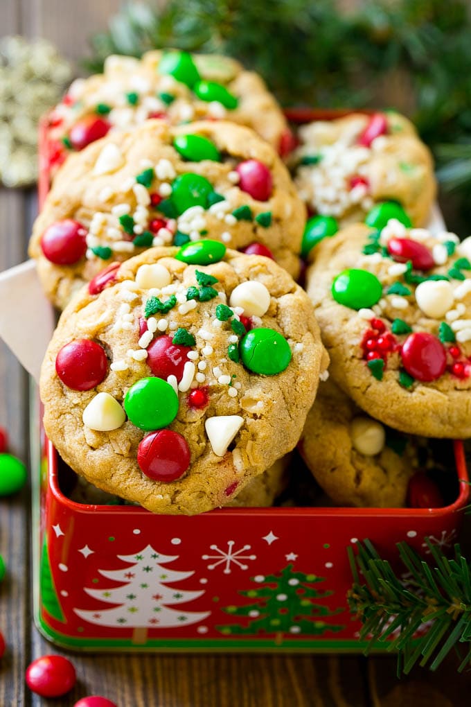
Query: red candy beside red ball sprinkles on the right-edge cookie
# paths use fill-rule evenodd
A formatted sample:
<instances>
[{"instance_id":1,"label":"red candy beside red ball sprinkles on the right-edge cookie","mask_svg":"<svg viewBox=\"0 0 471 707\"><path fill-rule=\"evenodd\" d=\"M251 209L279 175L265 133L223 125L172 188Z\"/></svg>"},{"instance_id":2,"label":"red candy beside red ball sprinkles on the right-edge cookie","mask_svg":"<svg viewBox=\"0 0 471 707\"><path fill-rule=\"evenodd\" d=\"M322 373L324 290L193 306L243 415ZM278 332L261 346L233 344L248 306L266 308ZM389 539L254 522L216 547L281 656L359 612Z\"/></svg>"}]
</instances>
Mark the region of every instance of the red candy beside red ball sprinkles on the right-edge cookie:
<instances>
[{"instance_id":1,"label":"red candy beside red ball sprinkles on the right-edge cookie","mask_svg":"<svg viewBox=\"0 0 471 707\"><path fill-rule=\"evenodd\" d=\"M445 373L446 350L434 334L410 334L403 344L401 356L407 373L422 382L436 380Z\"/></svg>"}]
</instances>

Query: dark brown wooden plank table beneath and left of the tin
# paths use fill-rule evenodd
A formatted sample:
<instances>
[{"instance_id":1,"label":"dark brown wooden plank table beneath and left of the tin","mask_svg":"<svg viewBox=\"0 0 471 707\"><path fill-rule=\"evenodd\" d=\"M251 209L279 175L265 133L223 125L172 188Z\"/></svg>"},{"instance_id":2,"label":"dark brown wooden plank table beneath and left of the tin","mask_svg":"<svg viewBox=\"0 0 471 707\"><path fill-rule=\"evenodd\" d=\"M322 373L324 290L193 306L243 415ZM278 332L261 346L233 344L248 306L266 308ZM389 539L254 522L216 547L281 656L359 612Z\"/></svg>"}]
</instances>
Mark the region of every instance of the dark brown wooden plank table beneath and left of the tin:
<instances>
[{"instance_id":1,"label":"dark brown wooden plank table beneath and left of the tin","mask_svg":"<svg viewBox=\"0 0 471 707\"><path fill-rule=\"evenodd\" d=\"M118 0L0 0L0 33L46 37L70 59L105 26ZM37 200L34 192L0 189L0 270L22 262ZM0 306L7 306L2 302ZM34 346L34 341L32 341ZM11 451L28 460L28 378L0 341L0 425ZM0 586L0 630L8 650L0 661L0 707L72 707L102 694L118 707L457 707L469 703L470 674L453 658L436 674L417 669L398 681L395 658L338 655L71 655L73 693L43 700L25 687L25 667L63 653L32 623L30 493L0 499L0 553L8 574Z\"/></svg>"}]
</instances>

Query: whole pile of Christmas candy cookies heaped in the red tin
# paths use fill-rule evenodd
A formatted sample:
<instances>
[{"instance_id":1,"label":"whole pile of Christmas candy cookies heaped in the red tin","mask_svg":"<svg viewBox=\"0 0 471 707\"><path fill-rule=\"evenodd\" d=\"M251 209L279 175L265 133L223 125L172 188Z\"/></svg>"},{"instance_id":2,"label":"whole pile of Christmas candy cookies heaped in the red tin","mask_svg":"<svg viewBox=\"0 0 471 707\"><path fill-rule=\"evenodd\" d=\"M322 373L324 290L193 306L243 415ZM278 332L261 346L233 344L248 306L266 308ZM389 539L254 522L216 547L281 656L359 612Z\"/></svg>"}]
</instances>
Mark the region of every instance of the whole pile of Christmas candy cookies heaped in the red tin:
<instances>
[{"instance_id":1,"label":"whole pile of Christmas candy cookies heaped in the red tin","mask_svg":"<svg viewBox=\"0 0 471 707\"><path fill-rule=\"evenodd\" d=\"M301 438L335 503L401 506L420 444L393 430L471 434L470 247L417 228L434 179L405 119L294 148L258 76L151 52L74 83L49 131L30 254L63 310L41 396L77 501L270 505Z\"/></svg>"}]
</instances>

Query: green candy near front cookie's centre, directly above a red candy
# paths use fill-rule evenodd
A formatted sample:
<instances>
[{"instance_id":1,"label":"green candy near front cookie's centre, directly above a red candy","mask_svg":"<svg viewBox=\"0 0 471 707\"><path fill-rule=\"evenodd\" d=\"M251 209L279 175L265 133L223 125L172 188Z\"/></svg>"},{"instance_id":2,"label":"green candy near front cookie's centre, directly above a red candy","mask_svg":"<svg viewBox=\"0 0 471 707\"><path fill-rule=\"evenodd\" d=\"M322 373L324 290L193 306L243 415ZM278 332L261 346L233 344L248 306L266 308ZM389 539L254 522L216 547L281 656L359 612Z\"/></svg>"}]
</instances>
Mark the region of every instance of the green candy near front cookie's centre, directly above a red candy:
<instances>
[{"instance_id":1,"label":"green candy near front cookie's centre, directly above a red candy","mask_svg":"<svg viewBox=\"0 0 471 707\"><path fill-rule=\"evenodd\" d=\"M124 409L141 430L161 430L177 417L178 395L162 378L141 378L126 393Z\"/></svg>"}]
</instances>

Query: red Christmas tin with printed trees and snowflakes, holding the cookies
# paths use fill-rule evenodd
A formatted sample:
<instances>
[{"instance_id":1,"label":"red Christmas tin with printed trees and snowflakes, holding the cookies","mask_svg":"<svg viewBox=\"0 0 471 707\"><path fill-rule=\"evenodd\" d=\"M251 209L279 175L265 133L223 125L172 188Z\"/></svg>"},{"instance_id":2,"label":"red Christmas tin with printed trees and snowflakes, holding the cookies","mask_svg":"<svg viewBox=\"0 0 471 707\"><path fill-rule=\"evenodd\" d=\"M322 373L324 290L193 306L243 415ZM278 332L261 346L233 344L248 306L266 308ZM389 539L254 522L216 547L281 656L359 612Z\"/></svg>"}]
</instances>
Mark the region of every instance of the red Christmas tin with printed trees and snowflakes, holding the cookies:
<instances>
[{"instance_id":1,"label":"red Christmas tin with printed trees and snowflakes, holding the cookies","mask_svg":"<svg viewBox=\"0 0 471 707\"><path fill-rule=\"evenodd\" d=\"M41 200L50 149L44 121ZM347 547L369 538L389 559L403 540L425 554L425 537L451 547L468 497L462 443L454 453L458 492L445 508L223 508L186 517L71 501L43 436L34 484L37 627L80 650L361 650L347 608Z\"/></svg>"}]
</instances>

